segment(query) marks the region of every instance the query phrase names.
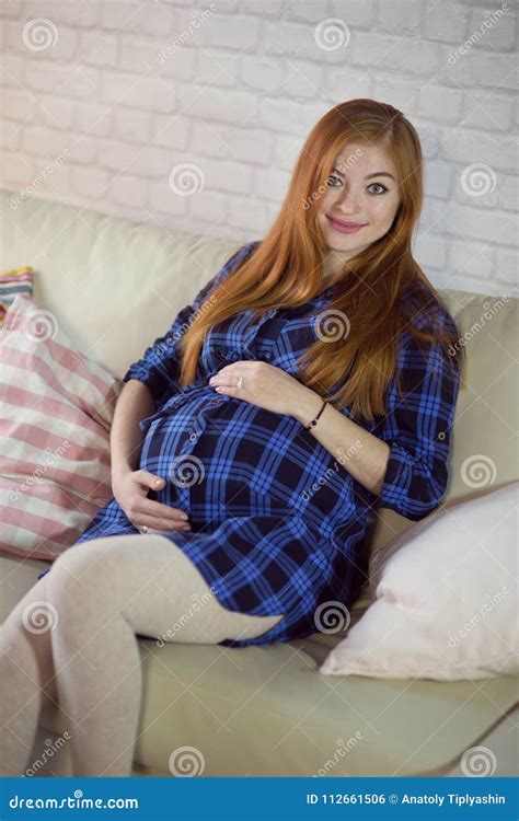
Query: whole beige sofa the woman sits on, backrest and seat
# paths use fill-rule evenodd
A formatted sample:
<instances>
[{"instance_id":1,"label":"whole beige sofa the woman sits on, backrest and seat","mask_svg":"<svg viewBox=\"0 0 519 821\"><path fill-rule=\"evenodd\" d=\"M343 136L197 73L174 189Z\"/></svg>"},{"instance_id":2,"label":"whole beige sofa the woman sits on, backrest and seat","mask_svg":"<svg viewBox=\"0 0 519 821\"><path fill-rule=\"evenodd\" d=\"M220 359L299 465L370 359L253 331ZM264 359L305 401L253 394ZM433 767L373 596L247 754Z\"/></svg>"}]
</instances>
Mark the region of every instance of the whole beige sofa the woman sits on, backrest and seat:
<instances>
[{"instance_id":1,"label":"whole beige sofa the woman sits on, backrest and seat","mask_svg":"<svg viewBox=\"0 0 519 821\"><path fill-rule=\"evenodd\" d=\"M11 196L1 193L1 268L32 265L39 307L53 311L88 356L119 377L242 244L45 200L31 199L12 210ZM455 290L442 294L471 337L469 386L459 400L446 497L454 500L518 478L512 438L517 301L495 310L496 298ZM492 315L485 319L488 308ZM468 488L461 464L480 453L492 458L496 476L492 487ZM379 548L407 525L382 511L373 518L368 547ZM45 563L1 555L0 567L4 618ZM365 588L353 624L368 605ZM169 758L181 745L201 751L203 776L461 775L460 755L475 744L495 753L495 775L515 772L516 679L319 675L316 667L338 640L315 634L265 647L158 648L152 639L139 639L145 695L134 774L171 775ZM66 728L58 708L43 715L30 763L42 759ZM362 740L348 743L356 733ZM346 755L337 755L341 740L349 749ZM66 744L45 760L39 775L70 774Z\"/></svg>"}]
</instances>

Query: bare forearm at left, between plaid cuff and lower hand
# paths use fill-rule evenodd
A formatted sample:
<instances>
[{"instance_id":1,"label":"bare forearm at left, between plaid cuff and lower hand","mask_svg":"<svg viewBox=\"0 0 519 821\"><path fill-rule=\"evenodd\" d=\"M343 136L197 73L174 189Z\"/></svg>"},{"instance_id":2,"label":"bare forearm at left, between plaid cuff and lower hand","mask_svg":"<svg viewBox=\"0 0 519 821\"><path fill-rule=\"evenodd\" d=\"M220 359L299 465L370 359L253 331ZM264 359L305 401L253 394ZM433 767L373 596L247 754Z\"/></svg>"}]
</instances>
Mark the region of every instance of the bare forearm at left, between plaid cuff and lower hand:
<instances>
[{"instance_id":1,"label":"bare forearm at left, between plaid cuff and lower hand","mask_svg":"<svg viewBox=\"0 0 519 821\"><path fill-rule=\"evenodd\" d=\"M138 470L142 447L139 421L154 409L151 392L142 382L137 379L126 382L115 406L109 436L112 483L115 474Z\"/></svg>"}]
</instances>

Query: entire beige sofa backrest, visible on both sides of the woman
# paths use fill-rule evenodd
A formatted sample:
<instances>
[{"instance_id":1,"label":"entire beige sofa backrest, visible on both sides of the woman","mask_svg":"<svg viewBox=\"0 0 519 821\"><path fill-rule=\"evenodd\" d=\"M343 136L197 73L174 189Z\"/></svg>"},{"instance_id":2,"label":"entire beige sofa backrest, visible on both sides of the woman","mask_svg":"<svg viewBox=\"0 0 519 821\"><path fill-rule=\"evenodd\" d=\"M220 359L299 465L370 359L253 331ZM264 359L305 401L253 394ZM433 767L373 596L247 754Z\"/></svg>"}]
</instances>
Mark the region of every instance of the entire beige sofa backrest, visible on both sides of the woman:
<instances>
[{"instance_id":1,"label":"entire beige sofa backrest, visible on both sides of the woman","mask_svg":"<svg viewBox=\"0 0 519 821\"><path fill-rule=\"evenodd\" d=\"M12 192L0 189L9 212ZM181 308L246 238L188 234L30 199L3 232L0 267L27 261L35 300L59 317L89 357L123 377ZM251 236L249 240L258 238ZM514 448L518 299L438 289L460 328L468 386L460 392L445 501L476 496L518 478ZM385 544L408 520L380 509L370 543Z\"/></svg>"}]
</instances>

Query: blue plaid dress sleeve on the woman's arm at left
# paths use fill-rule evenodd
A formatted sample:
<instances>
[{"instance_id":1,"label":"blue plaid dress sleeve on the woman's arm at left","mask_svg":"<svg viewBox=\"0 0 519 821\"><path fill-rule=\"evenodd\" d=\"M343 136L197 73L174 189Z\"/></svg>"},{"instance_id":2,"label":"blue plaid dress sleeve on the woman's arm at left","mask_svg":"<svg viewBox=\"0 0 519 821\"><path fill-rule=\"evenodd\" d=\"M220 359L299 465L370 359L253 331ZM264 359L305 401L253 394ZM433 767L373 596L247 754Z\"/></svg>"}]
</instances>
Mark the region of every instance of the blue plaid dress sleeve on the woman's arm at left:
<instances>
[{"instance_id":1,"label":"blue plaid dress sleeve on the woman's arm at left","mask_svg":"<svg viewBox=\"0 0 519 821\"><path fill-rule=\"evenodd\" d=\"M194 301L177 313L168 333L164 336L158 337L145 350L142 357L129 366L123 377L123 382L137 379L147 385L153 396L155 407L162 405L172 395L177 389L180 379L180 342L184 331L188 327L189 319L206 301L211 291L220 285L221 280L231 274L256 245L257 242L243 245L227 261L198 292Z\"/></svg>"}]
</instances>

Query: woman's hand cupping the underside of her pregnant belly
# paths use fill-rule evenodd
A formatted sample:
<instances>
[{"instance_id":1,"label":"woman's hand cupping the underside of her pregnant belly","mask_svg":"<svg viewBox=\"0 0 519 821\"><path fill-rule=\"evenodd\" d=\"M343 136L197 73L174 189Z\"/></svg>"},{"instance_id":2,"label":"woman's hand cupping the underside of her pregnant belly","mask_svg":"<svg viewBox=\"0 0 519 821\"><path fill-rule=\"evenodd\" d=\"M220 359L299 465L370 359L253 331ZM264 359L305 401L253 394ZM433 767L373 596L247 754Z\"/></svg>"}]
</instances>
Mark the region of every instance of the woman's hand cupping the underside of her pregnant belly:
<instances>
[{"instance_id":1,"label":"woman's hand cupping the underside of her pregnant belly","mask_svg":"<svg viewBox=\"0 0 519 821\"><path fill-rule=\"evenodd\" d=\"M143 524L148 533L153 531L189 532L187 516L178 508L171 508L148 499L148 492L162 490L164 479L148 471L117 471L112 477L114 497L137 530Z\"/></svg>"}]
</instances>

